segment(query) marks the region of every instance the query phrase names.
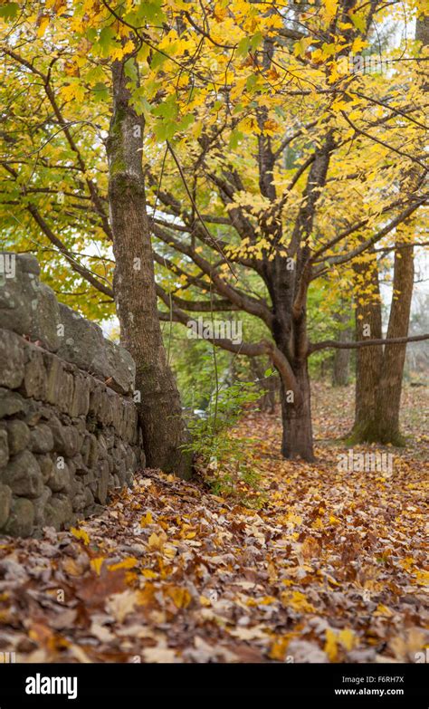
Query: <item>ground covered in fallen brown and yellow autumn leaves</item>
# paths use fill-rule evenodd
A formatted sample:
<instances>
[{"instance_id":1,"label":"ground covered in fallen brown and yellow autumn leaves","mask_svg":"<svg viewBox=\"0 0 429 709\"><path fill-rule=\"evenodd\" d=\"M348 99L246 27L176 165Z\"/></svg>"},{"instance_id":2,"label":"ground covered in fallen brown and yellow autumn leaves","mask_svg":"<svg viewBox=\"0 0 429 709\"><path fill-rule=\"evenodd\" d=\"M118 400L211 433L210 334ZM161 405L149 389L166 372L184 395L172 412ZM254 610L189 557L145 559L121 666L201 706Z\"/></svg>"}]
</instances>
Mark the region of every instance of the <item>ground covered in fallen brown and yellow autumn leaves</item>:
<instances>
[{"instance_id":1,"label":"ground covered in fallen brown and yellow autumn leaves","mask_svg":"<svg viewBox=\"0 0 429 709\"><path fill-rule=\"evenodd\" d=\"M18 662L415 662L429 639L428 393L405 388L413 437L389 449L391 473L338 471L352 391L316 384L314 465L282 460L278 412L257 413L235 435L253 437L258 480L234 496L146 471L78 529L1 538L0 652Z\"/></svg>"}]
</instances>

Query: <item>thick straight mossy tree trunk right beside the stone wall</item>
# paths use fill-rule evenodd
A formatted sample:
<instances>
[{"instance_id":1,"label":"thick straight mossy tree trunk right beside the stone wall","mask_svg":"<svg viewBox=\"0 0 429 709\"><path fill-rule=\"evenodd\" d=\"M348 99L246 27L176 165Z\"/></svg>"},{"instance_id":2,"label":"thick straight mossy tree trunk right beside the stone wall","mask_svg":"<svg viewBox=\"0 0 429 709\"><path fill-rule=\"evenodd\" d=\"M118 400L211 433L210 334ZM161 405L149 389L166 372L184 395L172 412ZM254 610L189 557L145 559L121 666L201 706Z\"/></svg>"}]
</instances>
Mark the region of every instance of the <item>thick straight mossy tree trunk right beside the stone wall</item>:
<instances>
[{"instance_id":1,"label":"thick straight mossy tree trunk right beside the stone wall","mask_svg":"<svg viewBox=\"0 0 429 709\"><path fill-rule=\"evenodd\" d=\"M176 381L167 366L160 324L142 170L142 117L129 105L124 63L112 67L114 110L107 141L115 254L114 292L121 341L136 361L138 404L148 467L186 476L188 456Z\"/></svg>"}]
</instances>

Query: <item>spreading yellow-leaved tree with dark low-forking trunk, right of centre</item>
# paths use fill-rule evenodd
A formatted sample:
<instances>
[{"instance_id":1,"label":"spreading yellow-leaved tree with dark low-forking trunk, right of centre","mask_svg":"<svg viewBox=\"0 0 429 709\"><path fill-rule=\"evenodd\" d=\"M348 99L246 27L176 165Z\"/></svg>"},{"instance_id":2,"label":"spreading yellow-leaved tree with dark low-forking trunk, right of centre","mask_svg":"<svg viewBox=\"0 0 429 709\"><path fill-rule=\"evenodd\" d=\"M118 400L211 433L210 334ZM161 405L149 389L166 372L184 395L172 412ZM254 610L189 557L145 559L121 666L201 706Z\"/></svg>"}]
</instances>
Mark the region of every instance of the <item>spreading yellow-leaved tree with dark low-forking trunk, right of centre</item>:
<instances>
[{"instance_id":1,"label":"spreading yellow-leaved tree with dark low-forking trunk, right of centre","mask_svg":"<svg viewBox=\"0 0 429 709\"><path fill-rule=\"evenodd\" d=\"M195 140L186 135L175 149L169 146L163 183L168 187L157 187L148 166L154 197L165 212L155 216L154 234L163 254L167 249L182 256L180 266L167 256L159 260L174 273L164 290L158 287L168 308L163 317L186 325L195 311L238 308L261 319L266 340L214 341L239 354L271 357L281 375L285 457L313 458L311 353L364 349L371 342L380 351L386 341L380 334L355 342L310 342L309 289L323 275L332 288L349 290L359 263L370 262L373 249L390 244L398 229L404 233L403 225L424 204L422 77L415 65L404 62L395 70L396 85L414 81L415 93L406 98L380 72L340 73L343 53L366 46L377 15L383 16L377 4L365 10L322 6L316 26L318 32L323 28L323 43L305 13L307 32L300 38L282 25L261 33L256 47L244 41L237 50L243 61L232 88L225 89L231 115L215 125L206 120L208 129L199 130ZM272 14L265 20L270 26ZM220 34L210 36L215 46L228 41L225 33L222 41ZM400 176L415 166L417 183L398 196ZM412 237L408 233L405 241ZM253 292L244 285L249 270L260 277ZM357 288L366 302L370 284ZM209 297L198 302L197 292ZM389 339L392 348L397 340Z\"/></svg>"}]
</instances>

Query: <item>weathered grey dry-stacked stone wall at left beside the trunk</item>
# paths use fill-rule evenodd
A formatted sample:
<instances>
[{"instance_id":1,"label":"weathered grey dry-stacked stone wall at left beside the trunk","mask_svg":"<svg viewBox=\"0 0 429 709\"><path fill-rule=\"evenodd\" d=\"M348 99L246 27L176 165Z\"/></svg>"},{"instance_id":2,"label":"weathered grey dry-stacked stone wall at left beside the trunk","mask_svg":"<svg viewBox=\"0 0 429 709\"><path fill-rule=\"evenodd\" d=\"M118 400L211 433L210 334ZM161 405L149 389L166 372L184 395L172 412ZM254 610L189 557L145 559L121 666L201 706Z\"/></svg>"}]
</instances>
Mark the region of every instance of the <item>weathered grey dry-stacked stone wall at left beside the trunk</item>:
<instances>
[{"instance_id":1,"label":"weathered grey dry-stacked stone wall at left beside the trunk","mask_svg":"<svg viewBox=\"0 0 429 709\"><path fill-rule=\"evenodd\" d=\"M0 254L0 534L96 513L144 466L129 352Z\"/></svg>"}]
</instances>

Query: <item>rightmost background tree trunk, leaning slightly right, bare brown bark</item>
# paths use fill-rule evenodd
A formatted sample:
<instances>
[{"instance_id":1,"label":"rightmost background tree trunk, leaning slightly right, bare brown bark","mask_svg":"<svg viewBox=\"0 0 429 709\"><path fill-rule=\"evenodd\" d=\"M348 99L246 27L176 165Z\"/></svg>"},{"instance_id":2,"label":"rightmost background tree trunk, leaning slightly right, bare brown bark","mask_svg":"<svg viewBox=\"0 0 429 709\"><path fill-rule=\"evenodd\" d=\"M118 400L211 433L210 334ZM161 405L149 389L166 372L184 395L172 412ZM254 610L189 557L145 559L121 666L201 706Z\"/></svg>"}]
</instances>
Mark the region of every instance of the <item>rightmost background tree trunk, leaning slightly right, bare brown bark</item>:
<instances>
[{"instance_id":1,"label":"rightmost background tree trunk, leaning slightly right, bare brown bark","mask_svg":"<svg viewBox=\"0 0 429 709\"><path fill-rule=\"evenodd\" d=\"M387 328L387 338L406 337L410 321L411 299L414 284L414 254L412 248L395 252L392 304ZM386 345L383 367L377 393L377 440L403 446L399 433L402 378L406 345Z\"/></svg>"}]
</instances>

